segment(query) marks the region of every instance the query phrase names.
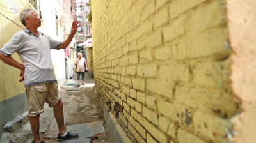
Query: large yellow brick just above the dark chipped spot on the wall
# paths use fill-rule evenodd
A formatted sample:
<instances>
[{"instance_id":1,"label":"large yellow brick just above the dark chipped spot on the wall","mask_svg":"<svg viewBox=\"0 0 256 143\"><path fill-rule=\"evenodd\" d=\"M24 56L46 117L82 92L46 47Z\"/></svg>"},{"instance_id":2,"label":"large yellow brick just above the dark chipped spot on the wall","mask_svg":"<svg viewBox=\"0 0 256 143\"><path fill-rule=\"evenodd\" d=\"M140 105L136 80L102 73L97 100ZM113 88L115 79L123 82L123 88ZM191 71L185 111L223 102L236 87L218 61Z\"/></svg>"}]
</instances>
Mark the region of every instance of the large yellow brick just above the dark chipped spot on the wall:
<instances>
[{"instance_id":1,"label":"large yellow brick just above the dark chipped spot on the wall","mask_svg":"<svg viewBox=\"0 0 256 143\"><path fill-rule=\"evenodd\" d=\"M237 112L231 93L227 93L225 89L177 86L175 98L177 102L189 107L215 111L221 116L230 117Z\"/></svg>"}]
</instances>

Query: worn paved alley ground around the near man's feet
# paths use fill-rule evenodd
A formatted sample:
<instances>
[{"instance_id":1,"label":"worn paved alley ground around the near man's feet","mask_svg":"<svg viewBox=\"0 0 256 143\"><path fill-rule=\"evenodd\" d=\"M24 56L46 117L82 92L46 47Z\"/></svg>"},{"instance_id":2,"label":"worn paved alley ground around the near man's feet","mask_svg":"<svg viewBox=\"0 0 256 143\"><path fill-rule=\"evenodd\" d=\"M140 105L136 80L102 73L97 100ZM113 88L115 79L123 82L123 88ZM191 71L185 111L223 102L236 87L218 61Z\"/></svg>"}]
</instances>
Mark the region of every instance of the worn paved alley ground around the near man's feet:
<instances>
[{"instance_id":1,"label":"worn paved alley ground around the near man's feet","mask_svg":"<svg viewBox=\"0 0 256 143\"><path fill-rule=\"evenodd\" d=\"M67 131L79 133L79 138L62 143L108 143L106 124L99 97L94 92L94 80L86 73L85 85L76 87L74 79L67 80L59 94L62 96L63 113ZM45 112L40 115L40 136L44 142L58 142L58 126L53 110L45 103ZM5 136L4 142L32 142L29 122L18 131Z\"/></svg>"}]
</instances>

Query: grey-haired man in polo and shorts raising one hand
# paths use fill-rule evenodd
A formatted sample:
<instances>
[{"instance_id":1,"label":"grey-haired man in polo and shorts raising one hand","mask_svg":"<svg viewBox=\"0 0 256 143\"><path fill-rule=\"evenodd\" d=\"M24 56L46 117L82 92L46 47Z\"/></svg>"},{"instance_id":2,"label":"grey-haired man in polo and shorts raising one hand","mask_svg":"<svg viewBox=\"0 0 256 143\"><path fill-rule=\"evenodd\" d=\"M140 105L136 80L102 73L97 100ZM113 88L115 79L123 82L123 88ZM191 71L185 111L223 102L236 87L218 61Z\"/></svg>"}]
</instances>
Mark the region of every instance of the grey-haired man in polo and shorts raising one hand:
<instances>
[{"instance_id":1,"label":"grey-haired man in polo and shorts raising one hand","mask_svg":"<svg viewBox=\"0 0 256 143\"><path fill-rule=\"evenodd\" d=\"M65 49L72 41L77 31L77 21L72 23L68 38L56 41L46 34L37 31L41 19L33 9L20 12L20 21L26 27L14 34L8 43L0 49L0 59L4 63L20 69L19 82L24 80L28 99L28 115L34 137L33 142L44 142L39 135L39 116L44 112L44 103L53 107L54 117L58 124L58 140L76 139L77 133L66 132L63 117L63 103L58 94L58 83L54 75L51 61L51 49ZM17 52L22 64L15 61L11 55ZM25 76L26 75L26 76Z\"/></svg>"}]
</instances>

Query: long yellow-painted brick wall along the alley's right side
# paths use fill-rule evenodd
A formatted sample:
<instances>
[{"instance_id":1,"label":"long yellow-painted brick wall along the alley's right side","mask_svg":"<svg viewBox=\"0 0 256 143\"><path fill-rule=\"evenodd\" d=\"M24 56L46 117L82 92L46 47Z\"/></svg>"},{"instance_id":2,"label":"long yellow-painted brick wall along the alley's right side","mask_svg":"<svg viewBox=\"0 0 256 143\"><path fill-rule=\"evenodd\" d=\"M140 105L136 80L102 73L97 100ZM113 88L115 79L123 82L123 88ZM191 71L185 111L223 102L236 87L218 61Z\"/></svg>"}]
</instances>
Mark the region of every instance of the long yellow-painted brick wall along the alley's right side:
<instances>
[{"instance_id":1,"label":"long yellow-painted brick wall along the alley's right side","mask_svg":"<svg viewBox=\"0 0 256 143\"><path fill-rule=\"evenodd\" d=\"M223 0L92 0L97 90L132 142L229 142Z\"/></svg>"}]
</instances>

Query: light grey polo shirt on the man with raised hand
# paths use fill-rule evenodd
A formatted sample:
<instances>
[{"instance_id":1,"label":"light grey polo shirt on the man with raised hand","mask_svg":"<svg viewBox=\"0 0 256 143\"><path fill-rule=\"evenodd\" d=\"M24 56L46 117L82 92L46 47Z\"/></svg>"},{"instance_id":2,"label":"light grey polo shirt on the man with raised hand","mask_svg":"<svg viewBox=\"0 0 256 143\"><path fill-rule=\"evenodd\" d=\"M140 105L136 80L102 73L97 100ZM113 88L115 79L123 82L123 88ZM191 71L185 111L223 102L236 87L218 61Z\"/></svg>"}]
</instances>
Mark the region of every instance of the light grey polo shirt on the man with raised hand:
<instances>
[{"instance_id":1,"label":"light grey polo shirt on the man with raised hand","mask_svg":"<svg viewBox=\"0 0 256 143\"><path fill-rule=\"evenodd\" d=\"M25 66L25 87L57 81L50 50L59 50L61 42L53 40L42 32L39 33L38 37L32 31L23 29L14 34L11 40L0 49L5 56L12 56L15 52L19 54Z\"/></svg>"}]
</instances>

